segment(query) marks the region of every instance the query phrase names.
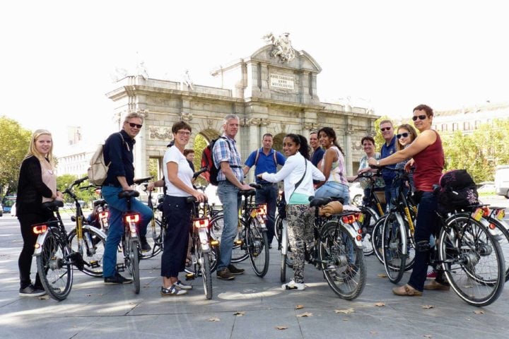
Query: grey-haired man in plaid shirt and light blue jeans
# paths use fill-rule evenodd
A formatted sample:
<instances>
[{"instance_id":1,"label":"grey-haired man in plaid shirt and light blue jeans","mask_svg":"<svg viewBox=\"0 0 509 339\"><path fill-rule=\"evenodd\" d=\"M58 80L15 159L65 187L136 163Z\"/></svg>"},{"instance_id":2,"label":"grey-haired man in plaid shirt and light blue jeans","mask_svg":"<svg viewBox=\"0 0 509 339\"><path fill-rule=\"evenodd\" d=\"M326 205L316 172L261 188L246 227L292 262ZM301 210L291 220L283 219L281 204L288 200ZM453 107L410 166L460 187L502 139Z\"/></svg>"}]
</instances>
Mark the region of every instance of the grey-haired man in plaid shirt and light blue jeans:
<instances>
[{"instance_id":1,"label":"grey-haired man in plaid shirt and light blue jeans","mask_svg":"<svg viewBox=\"0 0 509 339\"><path fill-rule=\"evenodd\" d=\"M213 145L213 165L218 169L218 197L223 204L223 234L221 234L221 260L217 267L217 278L233 280L235 275L244 273L241 268L233 266L231 261L233 239L237 234L238 211L241 198L238 191L252 189L243 182L242 161L237 150L235 136L239 129L239 117L228 114L223 121L224 133Z\"/></svg>"}]
</instances>

